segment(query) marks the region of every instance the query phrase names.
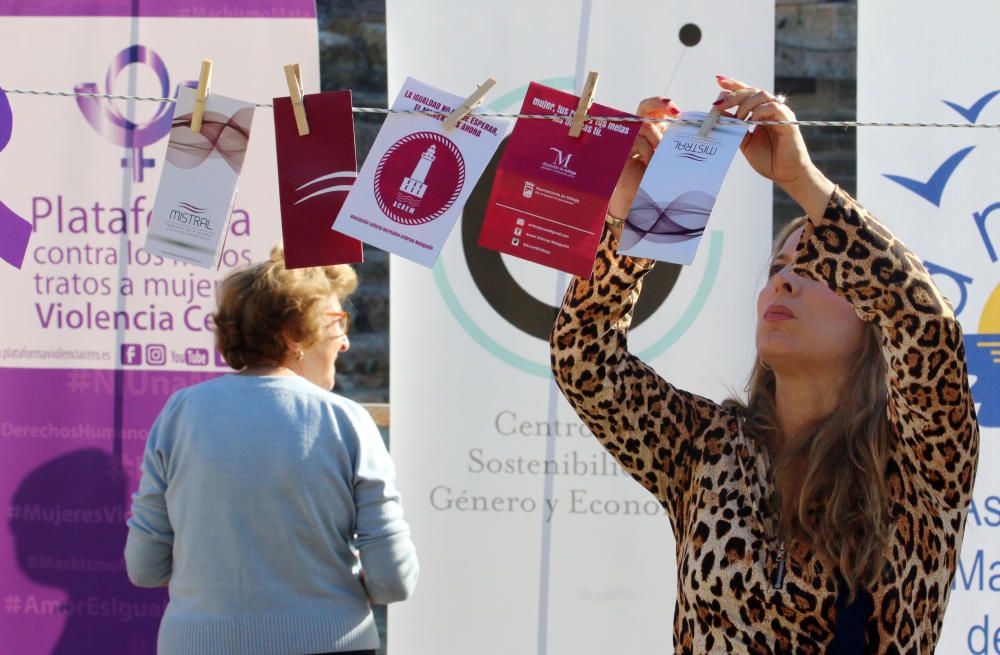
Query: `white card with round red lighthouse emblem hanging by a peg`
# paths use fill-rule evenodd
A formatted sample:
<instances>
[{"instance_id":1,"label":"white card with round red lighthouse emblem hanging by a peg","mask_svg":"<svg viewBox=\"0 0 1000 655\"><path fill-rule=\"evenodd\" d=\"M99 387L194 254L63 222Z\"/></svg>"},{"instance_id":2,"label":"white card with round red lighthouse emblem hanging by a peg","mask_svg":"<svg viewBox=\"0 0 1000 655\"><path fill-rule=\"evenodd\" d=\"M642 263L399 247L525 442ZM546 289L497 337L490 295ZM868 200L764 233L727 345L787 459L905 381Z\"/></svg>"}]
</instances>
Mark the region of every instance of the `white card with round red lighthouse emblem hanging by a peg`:
<instances>
[{"instance_id":1,"label":"white card with round red lighthouse emblem hanging by a peg","mask_svg":"<svg viewBox=\"0 0 1000 655\"><path fill-rule=\"evenodd\" d=\"M389 114L333 229L433 266L510 128L509 119L469 115L444 129L444 117L464 100L407 78L392 109L440 114Z\"/></svg>"}]
</instances>

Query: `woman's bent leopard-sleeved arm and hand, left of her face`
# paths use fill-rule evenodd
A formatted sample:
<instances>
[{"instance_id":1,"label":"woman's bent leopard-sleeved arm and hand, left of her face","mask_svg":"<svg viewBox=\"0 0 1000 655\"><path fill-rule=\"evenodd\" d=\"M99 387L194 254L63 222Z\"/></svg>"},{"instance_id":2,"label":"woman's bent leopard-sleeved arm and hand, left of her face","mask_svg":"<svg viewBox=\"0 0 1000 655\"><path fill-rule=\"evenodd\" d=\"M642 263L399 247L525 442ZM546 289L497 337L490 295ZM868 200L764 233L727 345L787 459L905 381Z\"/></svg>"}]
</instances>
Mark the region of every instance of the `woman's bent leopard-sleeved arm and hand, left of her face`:
<instances>
[{"instance_id":1,"label":"woman's bent leopard-sleeved arm and hand, left of her face","mask_svg":"<svg viewBox=\"0 0 1000 655\"><path fill-rule=\"evenodd\" d=\"M651 98L640 115L676 115ZM609 207L623 217L662 127L646 123ZM615 254L616 230L605 230L589 278L574 278L552 330L552 372L563 395L601 444L666 508L675 533L685 522L692 470L714 403L678 390L628 351L628 329L653 262Z\"/></svg>"}]
</instances>

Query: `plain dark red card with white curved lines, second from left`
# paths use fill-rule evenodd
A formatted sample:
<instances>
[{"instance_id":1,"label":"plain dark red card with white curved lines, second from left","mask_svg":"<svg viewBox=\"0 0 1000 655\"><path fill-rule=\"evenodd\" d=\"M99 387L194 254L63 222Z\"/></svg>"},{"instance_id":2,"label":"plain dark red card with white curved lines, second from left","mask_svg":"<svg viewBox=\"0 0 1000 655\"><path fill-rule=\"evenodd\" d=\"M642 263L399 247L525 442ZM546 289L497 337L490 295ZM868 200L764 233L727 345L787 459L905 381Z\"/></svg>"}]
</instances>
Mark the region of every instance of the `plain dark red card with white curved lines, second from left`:
<instances>
[{"instance_id":1,"label":"plain dark red card with white curved lines, second from left","mask_svg":"<svg viewBox=\"0 0 1000 655\"><path fill-rule=\"evenodd\" d=\"M289 98L274 99L285 266L363 261L361 242L330 229L357 178L351 92L305 96L309 134L299 136Z\"/></svg>"}]
</instances>

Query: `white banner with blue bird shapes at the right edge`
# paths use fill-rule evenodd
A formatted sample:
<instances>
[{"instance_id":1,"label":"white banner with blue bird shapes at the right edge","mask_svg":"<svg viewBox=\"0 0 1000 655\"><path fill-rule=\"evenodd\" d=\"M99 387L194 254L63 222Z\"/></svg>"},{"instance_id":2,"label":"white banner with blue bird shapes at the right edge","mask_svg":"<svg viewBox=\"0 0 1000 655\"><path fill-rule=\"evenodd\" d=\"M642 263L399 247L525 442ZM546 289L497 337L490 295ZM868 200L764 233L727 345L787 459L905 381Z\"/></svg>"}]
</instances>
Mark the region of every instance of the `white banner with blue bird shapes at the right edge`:
<instances>
[{"instance_id":1,"label":"white banner with blue bird shapes at the right edge","mask_svg":"<svg viewBox=\"0 0 1000 655\"><path fill-rule=\"evenodd\" d=\"M858 119L1000 123L998 23L990 0L920 3L919 11L903 0L859 3ZM858 131L859 200L921 257L954 306L979 414L974 505L939 653L1000 653L997 170L996 130Z\"/></svg>"}]
</instances>

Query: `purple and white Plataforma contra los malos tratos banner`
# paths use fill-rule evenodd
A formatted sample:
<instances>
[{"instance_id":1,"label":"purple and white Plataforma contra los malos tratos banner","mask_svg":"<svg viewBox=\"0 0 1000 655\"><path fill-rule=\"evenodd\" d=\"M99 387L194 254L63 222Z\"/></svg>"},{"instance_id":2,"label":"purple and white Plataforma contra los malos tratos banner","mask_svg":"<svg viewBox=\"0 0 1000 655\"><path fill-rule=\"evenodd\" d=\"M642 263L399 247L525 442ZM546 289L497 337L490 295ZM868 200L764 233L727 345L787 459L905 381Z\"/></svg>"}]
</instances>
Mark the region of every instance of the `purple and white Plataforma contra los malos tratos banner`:
<instances>
[{"instance_id":1,"label":"purple and white Plataforma contra los malos tratos banner","mask_svg":"<svg viewBox=\"0 0 1000 655\"><path fill-rule=\"evenodd\" d=\"M258 16L200 24L223 45L253 33L216 63L270 97L275 61L316 68L314 0L0 0L0 60L30 58L33 88L170 98L211 53L192 54L191 21L157 17ZM156 652L166 592L133 587L122 559L148 430L171 392L223 371L216 285L281 237L272 164L245 179L223 270L142 248L173 108L0 90L0 655Z\"/></svg>"}]
</instances>

